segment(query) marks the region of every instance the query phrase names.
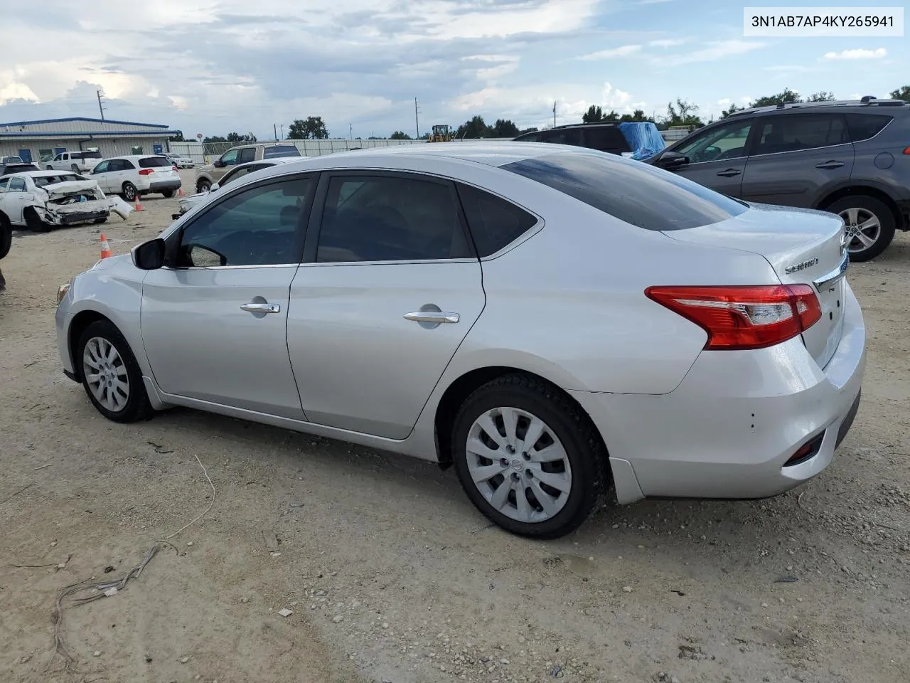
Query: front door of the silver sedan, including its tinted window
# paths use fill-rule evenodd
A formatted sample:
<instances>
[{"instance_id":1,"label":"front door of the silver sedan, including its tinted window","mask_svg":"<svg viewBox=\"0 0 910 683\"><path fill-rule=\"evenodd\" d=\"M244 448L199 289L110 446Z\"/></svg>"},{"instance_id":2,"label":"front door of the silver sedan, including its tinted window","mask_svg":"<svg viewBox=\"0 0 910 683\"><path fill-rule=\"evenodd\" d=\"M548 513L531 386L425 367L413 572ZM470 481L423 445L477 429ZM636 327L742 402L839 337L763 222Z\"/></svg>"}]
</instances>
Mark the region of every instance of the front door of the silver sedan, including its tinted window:
<instances>
[{"instance_id":1,"label":"front door of the silver sedan, including its tinted window","mask_svg":"<svg viewBox=\"0 0 910 683\"><path fill-rule=\"evenodd\" d=\"M168 394L303 418L288 360L288 288L315 177L226 193L167 240L142 286L142 341Z\"/></svg>"}]
</instances>

